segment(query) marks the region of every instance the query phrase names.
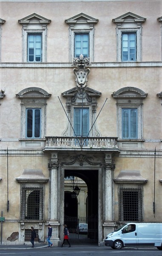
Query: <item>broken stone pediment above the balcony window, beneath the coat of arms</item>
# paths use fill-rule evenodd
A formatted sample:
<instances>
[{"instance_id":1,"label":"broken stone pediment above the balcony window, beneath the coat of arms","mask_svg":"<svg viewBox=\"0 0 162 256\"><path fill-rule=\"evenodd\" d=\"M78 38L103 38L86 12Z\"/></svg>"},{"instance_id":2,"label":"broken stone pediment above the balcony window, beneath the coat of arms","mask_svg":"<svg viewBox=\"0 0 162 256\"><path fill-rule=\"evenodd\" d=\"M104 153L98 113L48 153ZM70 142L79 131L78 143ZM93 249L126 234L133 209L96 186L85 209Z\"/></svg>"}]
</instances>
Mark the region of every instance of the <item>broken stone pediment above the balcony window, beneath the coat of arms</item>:
<instances>
[{"instance_id":1,"label":"broken stone pediment above the balcony window, beneath the coat of arms","mask_svg":"<svg viewBox=\"0 0 162 256\"><path fill-rule=\"evenodd\" d=\"M85 93L91 97L101 96L101 93L99 91L91 89L89 87L84 87L83 89L81 87L74 87L74 88L71 88L70 90L63 92L62 95L64 97L74 97L77 93L80 93L82 90L84 90Z\"/></svg>"}]
</instances>

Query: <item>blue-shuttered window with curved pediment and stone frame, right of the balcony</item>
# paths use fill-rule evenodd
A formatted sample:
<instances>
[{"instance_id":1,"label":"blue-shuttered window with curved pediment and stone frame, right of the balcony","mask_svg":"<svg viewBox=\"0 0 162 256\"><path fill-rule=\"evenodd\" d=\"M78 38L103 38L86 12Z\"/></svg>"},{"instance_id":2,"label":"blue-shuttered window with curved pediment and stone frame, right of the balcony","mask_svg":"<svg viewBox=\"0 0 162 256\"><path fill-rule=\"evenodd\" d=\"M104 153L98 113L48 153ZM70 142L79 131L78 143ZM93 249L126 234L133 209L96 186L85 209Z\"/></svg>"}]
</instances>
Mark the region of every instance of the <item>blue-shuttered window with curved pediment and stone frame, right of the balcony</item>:
<instances>
[{"instance_id":1,"label":"blue-shuttered window with curved pediment and stone frame, right of the balcony","mask_svg":"<svg viewBox=\"0 0 162 256\"><path fill-rule=\"evenodd\" d=\"M124 87L112 96L117 99L117 136L119 140L143 139L143 99L147 96L136 87Z\"/></svg>"}]
</instances>

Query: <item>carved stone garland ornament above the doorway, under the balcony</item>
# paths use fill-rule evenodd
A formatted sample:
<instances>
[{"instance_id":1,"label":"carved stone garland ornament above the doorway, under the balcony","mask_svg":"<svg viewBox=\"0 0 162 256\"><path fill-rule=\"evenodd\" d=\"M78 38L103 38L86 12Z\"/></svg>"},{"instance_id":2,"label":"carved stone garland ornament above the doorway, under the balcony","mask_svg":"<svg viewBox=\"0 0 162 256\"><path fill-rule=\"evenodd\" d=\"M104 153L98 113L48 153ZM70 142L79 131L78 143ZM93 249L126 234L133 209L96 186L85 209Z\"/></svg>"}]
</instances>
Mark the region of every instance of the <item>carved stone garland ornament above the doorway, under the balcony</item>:
<instances>
[{"instance_id":1,"label":"carved stone garland ornament above the doorway, under the balcony","mask_svg":"<svg viewBox=\"0 0 162 256\"><path fill-rule=\"evenodd\" d=\"M71 161L69 161L69 162L62 162L61 166L63 166L64 164L65 165L72 165L72 164L74 164L77 161L80 163L80 166L83 166L84 162L87 162L87 163L89 163L91 165L102 166L102 163L94 163L94 162L91 161L92 157L87 157L87 156L85 156L83 154L79 154L79 155L77 155L75 157L70 157L70 158L71 158Z\"/></svg>"}]
</instances>

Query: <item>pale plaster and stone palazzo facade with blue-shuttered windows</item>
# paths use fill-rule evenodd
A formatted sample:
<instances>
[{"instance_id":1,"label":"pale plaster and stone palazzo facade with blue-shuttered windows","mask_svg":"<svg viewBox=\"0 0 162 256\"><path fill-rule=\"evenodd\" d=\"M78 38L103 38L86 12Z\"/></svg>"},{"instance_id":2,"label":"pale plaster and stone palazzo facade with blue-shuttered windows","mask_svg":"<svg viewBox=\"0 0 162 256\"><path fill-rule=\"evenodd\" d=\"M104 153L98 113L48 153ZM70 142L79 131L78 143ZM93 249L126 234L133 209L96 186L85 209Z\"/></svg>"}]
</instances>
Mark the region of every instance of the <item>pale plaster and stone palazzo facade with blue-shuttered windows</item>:
<instances>
[{"instance_id":1,"label":"pale plaster and stone palazzo facade with blue-shuttered windows","mask_svg":"<svg viewBox=\"0 0 162 256\"><path fill-rule=\"evenodd\" d=\"M28 243L31 226L44 243L48 223L61 243L68 176L86 183L99 245L162 222L161 0L0 6L2 243Z\"/></svg>"}]
</instances>

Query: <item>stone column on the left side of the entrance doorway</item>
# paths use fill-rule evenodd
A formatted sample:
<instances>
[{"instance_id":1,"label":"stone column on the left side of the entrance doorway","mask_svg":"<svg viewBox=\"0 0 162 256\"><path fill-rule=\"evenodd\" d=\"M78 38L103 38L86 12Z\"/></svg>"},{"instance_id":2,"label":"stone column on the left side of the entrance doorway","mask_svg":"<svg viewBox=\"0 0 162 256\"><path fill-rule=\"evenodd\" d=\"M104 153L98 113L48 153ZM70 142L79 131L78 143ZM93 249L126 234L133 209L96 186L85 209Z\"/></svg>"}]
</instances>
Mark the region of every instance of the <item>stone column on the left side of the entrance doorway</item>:
<instances>
[{"instance_id":1,"label":"stone column on the left side of the entrance doorway","mask_svg":"<svg viewBox=\"0 0 162 256\"><path fill-rule=\"evenodd\" d=\"M59 226L60 223L58 222L58 159L57 153L51 154L51 161L48 163L48 169L51 171L50 175L50 187L49 187L49 216L48 216L48 223L51 224L52 227L52 237L51 241L53 242L54 246L58 246L59 242Z\"/></svg>"}]
</instances>

